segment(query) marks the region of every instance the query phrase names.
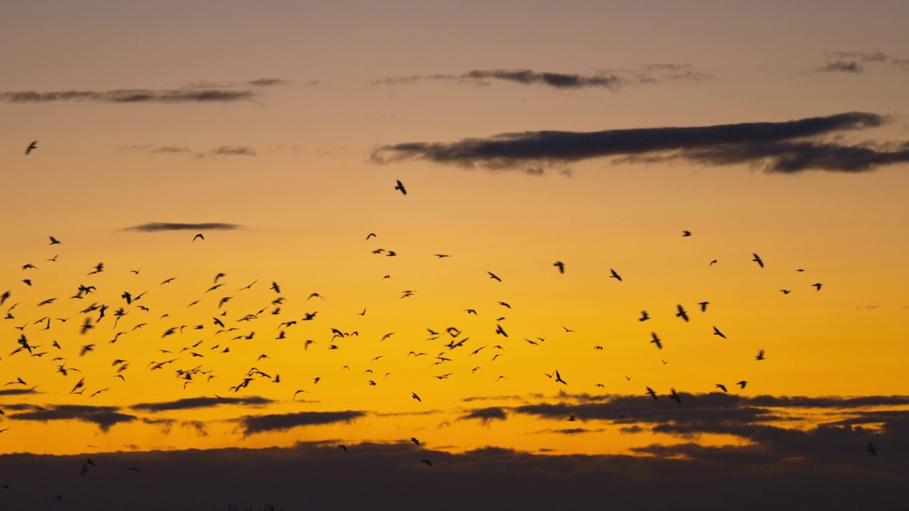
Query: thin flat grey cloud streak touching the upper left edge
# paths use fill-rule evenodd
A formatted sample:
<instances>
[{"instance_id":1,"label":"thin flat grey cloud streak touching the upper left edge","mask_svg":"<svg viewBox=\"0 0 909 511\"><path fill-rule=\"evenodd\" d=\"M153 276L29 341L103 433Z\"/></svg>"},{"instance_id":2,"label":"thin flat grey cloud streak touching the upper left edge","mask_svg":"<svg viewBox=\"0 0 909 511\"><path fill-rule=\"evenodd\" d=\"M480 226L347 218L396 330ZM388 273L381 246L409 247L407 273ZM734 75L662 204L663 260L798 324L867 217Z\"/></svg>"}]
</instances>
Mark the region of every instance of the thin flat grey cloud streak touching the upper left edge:
<instances>
[{"instance_id":1,"label":"thin flat grey cloud streak touching the upper left edge","mask_svg":"<svg viewBox=\"0 0 909 511\"><path fill-rule=\"evenodd\" d=\"M248 101L255 94L247 90L223 89L117 89L112 91L0 92L6 103L53 103L95 101L101 103L233 103Z\"/></svg>"}]
</instances>

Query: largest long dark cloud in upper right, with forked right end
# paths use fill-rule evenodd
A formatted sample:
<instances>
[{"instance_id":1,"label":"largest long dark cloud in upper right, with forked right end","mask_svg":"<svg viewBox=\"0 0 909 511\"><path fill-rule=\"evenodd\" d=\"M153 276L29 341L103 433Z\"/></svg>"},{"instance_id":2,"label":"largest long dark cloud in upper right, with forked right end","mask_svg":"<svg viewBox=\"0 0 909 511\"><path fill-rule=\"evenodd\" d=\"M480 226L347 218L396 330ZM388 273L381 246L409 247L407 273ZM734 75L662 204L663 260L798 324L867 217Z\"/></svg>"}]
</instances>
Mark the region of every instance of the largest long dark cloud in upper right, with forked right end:
<instances>
[{"instance_id":1,"label":"largest long dark cloud in upper right, with forked right end","mask_svg":"<svg viewBox=\"0 0 909 511\"><path fill-rule=\"evenodd\" d=\"M865 112L775 123L616 129L599 132L536 131L466 138L453 143L405 143L375 150L372 161L407 159L489 169L544 167L615 156L617 162L683 159L704 165L764 165L767 172L809 169L865 172L909 161L909 143L878 147L818 140L847 130L884 125L886 117Z\"/></svg>"}]
</instances>

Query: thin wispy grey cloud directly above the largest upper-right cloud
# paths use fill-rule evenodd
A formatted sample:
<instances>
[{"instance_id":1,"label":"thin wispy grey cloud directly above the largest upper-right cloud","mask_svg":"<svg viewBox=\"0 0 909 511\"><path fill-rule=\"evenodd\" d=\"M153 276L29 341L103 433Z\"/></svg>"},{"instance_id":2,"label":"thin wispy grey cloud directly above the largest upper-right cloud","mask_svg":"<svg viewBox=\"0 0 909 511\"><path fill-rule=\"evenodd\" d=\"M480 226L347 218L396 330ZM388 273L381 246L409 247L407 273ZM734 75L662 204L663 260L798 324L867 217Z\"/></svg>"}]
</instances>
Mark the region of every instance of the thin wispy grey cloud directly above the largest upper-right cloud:
<instances>
[{"instance_id":1,"label":"thin wispy grey cloud directly above the largest upper-right cloud","mask_svg":"<svg viewBox=\"0 0 909 511\"><path fill-rule=\"evenodd\" d=\"M604 88L616 91L627 85L654 84L674 80L696 81L711 77L711 75L694 71L688 64L654 64L644 65L638 70L602 71L591 75L534 71L533 69L474 69L460 75L409 75L380 78L373 80L370 84L412 85L421 79L426 79L489 85L492 81L497 80L520 85L544 85L562 90Z\"/></svg>"}]
</instances>

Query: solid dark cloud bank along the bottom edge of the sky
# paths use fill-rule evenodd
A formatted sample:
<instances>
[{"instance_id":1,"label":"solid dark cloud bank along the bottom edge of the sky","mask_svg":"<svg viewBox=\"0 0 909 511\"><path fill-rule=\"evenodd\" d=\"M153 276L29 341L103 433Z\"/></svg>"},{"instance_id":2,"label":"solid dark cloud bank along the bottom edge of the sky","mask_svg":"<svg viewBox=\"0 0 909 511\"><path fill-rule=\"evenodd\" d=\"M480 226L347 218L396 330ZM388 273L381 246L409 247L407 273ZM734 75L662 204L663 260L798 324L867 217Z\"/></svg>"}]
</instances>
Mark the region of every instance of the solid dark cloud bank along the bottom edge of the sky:
<instances>
[{"instance_id":1,"label":"solid dark cloud bank along the bottom edge of the sky","mask_svg":"<svg viewBox=\"0 0 909 511\"><path fill-rule=\"evenodd\" d=\"M63 495L67 508L135 511L297 509L301 499L306 508L376 511L899 509L909 485L905 458L869 456L864 446L823 462L761 446L648 446L634 451L641 456L347 446L97 453L85 477L75 476L85 456L5 455L3 483L13 492L4 505L51 509L59 503L50 496Z\"/></svg>"}]
</instances>

